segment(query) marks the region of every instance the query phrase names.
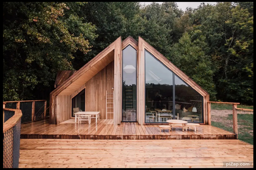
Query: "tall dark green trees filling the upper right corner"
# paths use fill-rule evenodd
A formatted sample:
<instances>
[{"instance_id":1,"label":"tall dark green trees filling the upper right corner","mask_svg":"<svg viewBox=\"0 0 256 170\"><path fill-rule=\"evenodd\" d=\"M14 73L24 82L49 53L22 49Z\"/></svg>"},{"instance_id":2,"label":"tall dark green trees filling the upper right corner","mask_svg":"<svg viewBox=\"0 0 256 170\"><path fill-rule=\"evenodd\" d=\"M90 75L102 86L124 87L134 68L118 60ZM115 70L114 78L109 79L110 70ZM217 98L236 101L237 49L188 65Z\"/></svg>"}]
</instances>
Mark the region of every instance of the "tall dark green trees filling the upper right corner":
<instances>
[{"instance_id":1,"label":"tall dark green trees filling the upper right corner","mask_svg":"<svg viewBox=\"0 0 256 170\"><path fill-rule=\"evenodd\" d=\"M245 6L224 2L202 5L193 14L192 40L205 37L217 68L217 99L253 103L253 13Z\"/></svg>"}]
</instances>

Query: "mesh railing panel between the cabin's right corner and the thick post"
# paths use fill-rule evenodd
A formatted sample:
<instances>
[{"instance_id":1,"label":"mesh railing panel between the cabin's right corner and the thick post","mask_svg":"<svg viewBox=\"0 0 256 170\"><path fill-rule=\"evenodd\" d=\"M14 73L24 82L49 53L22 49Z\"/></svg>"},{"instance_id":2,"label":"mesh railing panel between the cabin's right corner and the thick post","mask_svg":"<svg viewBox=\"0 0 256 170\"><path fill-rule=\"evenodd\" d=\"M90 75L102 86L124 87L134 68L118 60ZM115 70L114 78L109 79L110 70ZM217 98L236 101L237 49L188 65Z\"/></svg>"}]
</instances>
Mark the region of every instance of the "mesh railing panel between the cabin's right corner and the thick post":
<instances>
[{"instance_id":1,"label":"mesh railing panel between the cabin's right corner and the thick post","mask_svg":"<svg viewBox=\"0 0 256 170\"><path fill-rule=\"evenodd\" d=\"M233 133L232 104L210 103L211 126Z\"/></svg>"}]
</instances>

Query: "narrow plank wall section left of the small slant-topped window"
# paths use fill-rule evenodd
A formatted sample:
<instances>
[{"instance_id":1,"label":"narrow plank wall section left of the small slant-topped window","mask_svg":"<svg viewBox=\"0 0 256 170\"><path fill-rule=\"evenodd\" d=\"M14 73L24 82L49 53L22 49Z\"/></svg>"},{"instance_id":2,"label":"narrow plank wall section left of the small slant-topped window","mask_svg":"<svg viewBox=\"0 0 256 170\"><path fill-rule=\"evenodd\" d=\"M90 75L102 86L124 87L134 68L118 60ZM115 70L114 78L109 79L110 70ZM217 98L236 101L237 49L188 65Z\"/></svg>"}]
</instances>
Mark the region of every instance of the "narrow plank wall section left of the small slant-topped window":
<instances>
[{"instance_id":1,"label":"narrow plank wall section left of the small slant-topped window","mask_svg":"<svg viewBox=\"0 0 256 170\"><path fill-rule=\"evenodd\" d=\"M56 98L56 118L57 122L61 123L70 119L70 105L71 97L70 95L58 95Z\"/></svg>"}]
</instances>

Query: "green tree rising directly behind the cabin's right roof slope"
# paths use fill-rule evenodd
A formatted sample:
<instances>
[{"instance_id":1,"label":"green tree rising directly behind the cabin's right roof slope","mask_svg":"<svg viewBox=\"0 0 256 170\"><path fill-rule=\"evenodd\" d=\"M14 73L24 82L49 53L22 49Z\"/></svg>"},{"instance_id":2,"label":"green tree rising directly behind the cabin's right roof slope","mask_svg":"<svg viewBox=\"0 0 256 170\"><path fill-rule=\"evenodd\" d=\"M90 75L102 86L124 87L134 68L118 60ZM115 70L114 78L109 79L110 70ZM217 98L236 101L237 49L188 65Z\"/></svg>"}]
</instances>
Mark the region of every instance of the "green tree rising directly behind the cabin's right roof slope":
<instances>
[{"instance_id":1,"label":"green tree rising directly behind the cabin's right roof slope","mask_svg":"<svg viewBox=\"0 0 256 170\"><path fill-rule=\"evenodd\" d=\"M192 42L190 35L184 33L179 42L175 43L171 48L168 59L209 92L211 100L215 100L216 90L213 82L215 70L212 67L210 56L204 51L205 47L206 43L204 41L197 40Z\"/></svg>"}]
</instances>

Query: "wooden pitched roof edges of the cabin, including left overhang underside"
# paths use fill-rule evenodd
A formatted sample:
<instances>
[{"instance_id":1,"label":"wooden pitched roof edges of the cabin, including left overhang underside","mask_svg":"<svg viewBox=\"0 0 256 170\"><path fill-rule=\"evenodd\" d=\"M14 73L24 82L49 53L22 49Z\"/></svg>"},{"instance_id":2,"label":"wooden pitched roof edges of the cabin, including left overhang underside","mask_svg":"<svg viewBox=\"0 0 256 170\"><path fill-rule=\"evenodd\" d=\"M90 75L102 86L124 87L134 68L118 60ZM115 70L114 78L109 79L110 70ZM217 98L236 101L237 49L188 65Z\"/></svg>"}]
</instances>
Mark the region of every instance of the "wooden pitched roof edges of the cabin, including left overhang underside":
<instances>
[{"instance_id":1,"label":"wooden pitched roof edges of the cabin, including left overhang underside","mask_svg":"<svg viewBox=\"0 0 256 170\"><path fill-rule=\"evenodd\" d=\"M112 44L110 44L107 48L105 48L102 52L96 55L91 61L85 64L81 69L74 72L68 79L53 90L50 95L71 95L75 92L79 87L81 87L85 82L91 79L94 75L96 75L99 71L101 71L104 67L106 67L110 62L114 60L114 50L115 48L119 48L118 44L121 44L121 50L123 50L128 45L131 45L138 52L144 52L144 48L149 51L155 58L161 61L166 67L171 69L176 75L178 75L183 81L185 81L191 88L195 89L202 96L209 95L203 88L201 88L196 82L194 82L191 78L189 78L184 72L182 72L179 68L177 68L172 62L170 62L167 58L165 58L160 52L155 50L150 44L148 44L145 40L139 37L139 43L134 40L131 36L127 37L125 40L121 42L121 37L116 39ZM139 51L140 47L140 51ZM141 53L143 54L143 53ZM139 55L141 55L139 54ZM144 56L144 54L143 54ZM140 74L140 73L139 73Z\"/></svg>"}]
</instances>

